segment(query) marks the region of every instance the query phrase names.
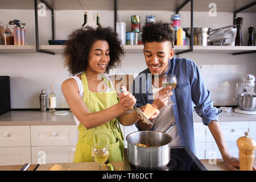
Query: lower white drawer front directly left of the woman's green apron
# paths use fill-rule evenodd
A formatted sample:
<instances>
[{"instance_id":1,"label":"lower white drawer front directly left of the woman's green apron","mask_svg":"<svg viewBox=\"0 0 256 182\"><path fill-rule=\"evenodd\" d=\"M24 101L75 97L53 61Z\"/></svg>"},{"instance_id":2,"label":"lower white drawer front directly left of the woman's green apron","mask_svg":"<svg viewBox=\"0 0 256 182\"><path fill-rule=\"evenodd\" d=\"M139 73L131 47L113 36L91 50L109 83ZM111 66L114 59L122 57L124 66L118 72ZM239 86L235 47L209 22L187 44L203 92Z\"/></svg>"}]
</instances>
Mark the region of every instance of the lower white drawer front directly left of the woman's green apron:
<instances>
[{"instance_id":1,"label":"lower white drawer front directly left of the woman's green apron","mask_svg":"<svg viewBox=\"0 0 256 182\"><path fill-rule=\"evenodd\" d=\"M75 151L76 146L31 147L32 164L72 163Z\"/></svg>"}]
</instances>

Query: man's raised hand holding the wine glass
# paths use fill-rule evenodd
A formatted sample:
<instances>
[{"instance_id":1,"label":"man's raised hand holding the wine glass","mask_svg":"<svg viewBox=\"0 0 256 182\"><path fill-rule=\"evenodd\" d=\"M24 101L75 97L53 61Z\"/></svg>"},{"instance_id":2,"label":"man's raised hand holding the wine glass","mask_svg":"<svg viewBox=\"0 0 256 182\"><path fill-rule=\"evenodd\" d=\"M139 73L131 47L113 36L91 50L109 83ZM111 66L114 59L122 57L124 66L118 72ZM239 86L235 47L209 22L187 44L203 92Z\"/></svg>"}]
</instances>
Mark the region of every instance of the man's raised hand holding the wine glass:
<instances>
[{"instance_id":1,"label":"man's raised hand holding the wine glass","mask_svg":"<svg viewBox=\"0 0 256 182\"><path fill-rule=\"evenodd\" d=\"M168 92L171 88L171 86L167 86L155 94L156 98L154 99L153 104L157 106L158 110L167 105L169 96L172 96L173 94L172 92Z\"/></svg>"}]
</instances>

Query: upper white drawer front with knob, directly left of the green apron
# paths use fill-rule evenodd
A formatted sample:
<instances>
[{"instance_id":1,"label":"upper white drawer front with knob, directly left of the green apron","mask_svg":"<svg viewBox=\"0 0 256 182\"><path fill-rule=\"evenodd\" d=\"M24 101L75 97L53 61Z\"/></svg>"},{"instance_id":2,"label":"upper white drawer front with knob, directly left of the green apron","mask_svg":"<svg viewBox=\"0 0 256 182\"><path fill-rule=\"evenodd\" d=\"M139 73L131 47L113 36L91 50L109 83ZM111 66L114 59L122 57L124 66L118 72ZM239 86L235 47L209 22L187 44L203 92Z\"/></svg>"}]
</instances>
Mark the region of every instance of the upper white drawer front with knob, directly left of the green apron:
<instances>
[{"instance_id":1,"label":"upper white drawer front with knob, directly left of the green apron","mask_svg":"<svg viewBox=\"0 0 256 182\"><path fill-rule=\"evenodd\" d=\"M31 146L76 146L77 126L31 126Z\"/></svg>"}]
</instances>

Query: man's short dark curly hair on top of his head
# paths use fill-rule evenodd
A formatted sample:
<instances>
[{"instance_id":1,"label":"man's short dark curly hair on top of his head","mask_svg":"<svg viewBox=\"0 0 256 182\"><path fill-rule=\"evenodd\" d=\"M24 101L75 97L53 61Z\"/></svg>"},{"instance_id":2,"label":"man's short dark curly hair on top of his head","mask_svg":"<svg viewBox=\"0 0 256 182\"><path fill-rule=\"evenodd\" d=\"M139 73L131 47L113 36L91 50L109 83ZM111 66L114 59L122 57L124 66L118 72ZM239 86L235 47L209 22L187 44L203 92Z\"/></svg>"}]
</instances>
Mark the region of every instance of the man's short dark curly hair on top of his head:
<instances>
[{"instance_id":1,"label":"man's short dark curly hair on top of his head","mask_svg":"<svg viewBox=\"0 0 256 182\"><path fill-rule=\"evenodd\" d=\"M163 42L170 41L174 48L174 31L170 23L156 22L142 28L142 42Z\"/></svg>"}]
</instances>

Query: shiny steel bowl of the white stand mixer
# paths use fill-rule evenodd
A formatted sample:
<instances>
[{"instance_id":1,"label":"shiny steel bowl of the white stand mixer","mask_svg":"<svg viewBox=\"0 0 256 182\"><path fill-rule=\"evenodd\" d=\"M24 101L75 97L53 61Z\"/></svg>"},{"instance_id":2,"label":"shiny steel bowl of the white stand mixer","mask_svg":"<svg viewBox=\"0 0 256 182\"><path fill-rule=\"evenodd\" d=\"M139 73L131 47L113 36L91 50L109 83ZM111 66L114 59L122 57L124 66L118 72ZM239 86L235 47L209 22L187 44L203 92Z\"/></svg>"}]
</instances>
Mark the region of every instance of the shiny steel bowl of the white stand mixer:
<instances>
[{"instance_id":1,"label":"shiny steel bowl of the white stand mixer","mask_svg":"<svg viewBox=\"0 0 256 182\"><path fill-rule=\"evenodd\" d=\"M253 111L256 107L256 96L250 94L241 96L241 94L238 94L237 104L241 110Z\"/></svg>"}]
</instances>

